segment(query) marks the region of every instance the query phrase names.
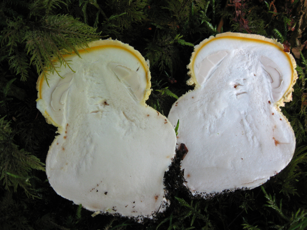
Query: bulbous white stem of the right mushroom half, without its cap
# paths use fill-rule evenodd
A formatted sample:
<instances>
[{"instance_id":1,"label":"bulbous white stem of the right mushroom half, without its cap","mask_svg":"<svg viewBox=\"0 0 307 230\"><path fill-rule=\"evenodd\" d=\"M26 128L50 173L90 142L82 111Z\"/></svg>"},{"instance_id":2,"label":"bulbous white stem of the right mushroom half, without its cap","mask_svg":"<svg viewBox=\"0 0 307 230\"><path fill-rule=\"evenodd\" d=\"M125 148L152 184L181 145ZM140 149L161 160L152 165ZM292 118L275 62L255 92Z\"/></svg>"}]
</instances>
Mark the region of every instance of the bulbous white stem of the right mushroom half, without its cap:
<instances>
[{"instance_id":1,"label":"bulbous white stem of the right mushroom half, without its cap","mask_svg":"<svg viewBox=\"0 0 307 230\"><path fill-rule=\"evenodd\" d=\"M177 144L188 148L181 168L193 195L254 188L293 156L293 130L274 106L258 57L251 50L227 51L211 74L200 76L204 83L169 112L173 127L180 120Z\"/></svg>"}]
</instances>

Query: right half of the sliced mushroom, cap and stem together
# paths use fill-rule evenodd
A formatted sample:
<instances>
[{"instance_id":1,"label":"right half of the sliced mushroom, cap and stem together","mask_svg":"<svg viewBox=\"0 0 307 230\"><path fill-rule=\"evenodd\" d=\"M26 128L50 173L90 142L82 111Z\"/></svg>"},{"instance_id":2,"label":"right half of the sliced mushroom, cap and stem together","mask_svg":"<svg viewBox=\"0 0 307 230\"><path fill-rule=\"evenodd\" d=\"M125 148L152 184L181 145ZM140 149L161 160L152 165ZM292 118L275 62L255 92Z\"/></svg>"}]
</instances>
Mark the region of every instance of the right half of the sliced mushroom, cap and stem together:
<instances>
[{"instance_id":1,"label":"right half of the sliced mushroom, cap and stem together","mask_svg":"<svg viewBox=\"0 0 307 230\"><path fill-rule=\"evenodd\" d=\"M286 167L295 136L279 107L292 99L295 67L282 44L260 35L222 33L195 46L187 81L195 88L168 116L173 127L180 121L192 195L251 189Z\"/></svg>"}]
</instances>

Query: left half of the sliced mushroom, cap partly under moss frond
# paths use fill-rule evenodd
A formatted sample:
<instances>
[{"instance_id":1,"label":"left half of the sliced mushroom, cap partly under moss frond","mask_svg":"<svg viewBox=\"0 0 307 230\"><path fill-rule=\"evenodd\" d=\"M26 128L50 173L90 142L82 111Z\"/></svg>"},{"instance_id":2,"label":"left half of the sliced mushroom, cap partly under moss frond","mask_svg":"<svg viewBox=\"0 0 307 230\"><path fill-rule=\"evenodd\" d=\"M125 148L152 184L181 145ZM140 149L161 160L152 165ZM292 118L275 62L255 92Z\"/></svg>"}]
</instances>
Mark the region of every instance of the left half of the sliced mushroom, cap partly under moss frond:
<instances>
[{"instance_id":1,"label":"left half of the sliced mushroom, cap partly under moss frond","mask_svg":"<svg viewBox=\"0 0 307 230\"><path fill-rule=\"evenodd\" d=\"M164 173L175 155L170 122L147 106L149 66L117 40L65 55L60 78L37 82L37 108L59 135L46 174L57 194L91 211L142 220L165 209Z\"/></svg>"}]
</instances>

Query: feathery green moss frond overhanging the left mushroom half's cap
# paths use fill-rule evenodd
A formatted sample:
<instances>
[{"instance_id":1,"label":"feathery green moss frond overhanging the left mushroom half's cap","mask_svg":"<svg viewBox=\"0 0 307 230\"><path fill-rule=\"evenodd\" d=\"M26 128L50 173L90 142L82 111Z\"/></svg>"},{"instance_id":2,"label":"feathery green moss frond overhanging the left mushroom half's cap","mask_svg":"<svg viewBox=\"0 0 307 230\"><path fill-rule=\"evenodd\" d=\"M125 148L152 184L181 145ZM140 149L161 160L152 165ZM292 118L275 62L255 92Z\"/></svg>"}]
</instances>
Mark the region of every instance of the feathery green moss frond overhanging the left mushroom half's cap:
<instances>
[{"instance_id":1,"label":"feathery green moss frond overhanging the left mushroom half's cap","mask_svg":"<svg viewBox=\"0 0 307 230\"><path fill-rule=\"evenodd\" d=\"M5 7L4 10L0 10L4 16L1 21L4 26L0 33L0 54L2 59L8 61L10 69L21 76L21 80L28 78L31 64L39 74L45 71L57 72L53 59L59 60L60 65L69 67L63 55L72 52L78 54L76 46L86 47L89 41L99 38L94 28L74 17L55 14L54 10L67 5L67 2L59 0L17 2L14 6L16 9L10 6L8 1L2 4ZM20 8L26 13L17 14ZM11 16L12 14L15 16Z\"/></svg>"}]
</instances>

